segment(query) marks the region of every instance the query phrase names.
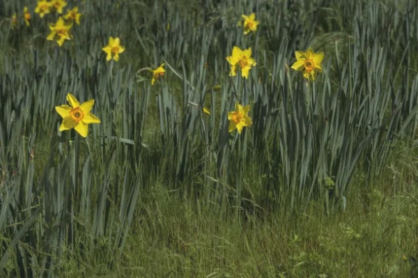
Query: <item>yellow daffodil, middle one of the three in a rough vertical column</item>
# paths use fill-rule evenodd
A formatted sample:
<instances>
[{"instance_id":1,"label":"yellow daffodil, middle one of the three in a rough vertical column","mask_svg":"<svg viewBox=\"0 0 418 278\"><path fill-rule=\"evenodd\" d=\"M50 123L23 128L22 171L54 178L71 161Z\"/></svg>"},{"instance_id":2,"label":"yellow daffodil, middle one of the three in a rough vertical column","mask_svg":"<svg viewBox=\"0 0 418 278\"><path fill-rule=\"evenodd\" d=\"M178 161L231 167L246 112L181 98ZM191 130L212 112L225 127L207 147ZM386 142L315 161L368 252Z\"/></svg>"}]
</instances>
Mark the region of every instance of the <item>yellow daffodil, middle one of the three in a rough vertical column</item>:
<instances>
[{"instance_id":1,"label":"yellow daffodil, middle one of the three in a rough vertical column","mask_svg":"<svg viewBox=\"0 0 418 278\"><path fill-rule=\"evenodd\" d=\"M248 78L248 73L251 67L256 65L256 60L251 58L251 47L249 49L241 50L240 47L234 46L232 55L226 57L226 61L231 65L230 76L237 75L238 70L241 70L242 77Z\"/></svg>"}]
</instances>

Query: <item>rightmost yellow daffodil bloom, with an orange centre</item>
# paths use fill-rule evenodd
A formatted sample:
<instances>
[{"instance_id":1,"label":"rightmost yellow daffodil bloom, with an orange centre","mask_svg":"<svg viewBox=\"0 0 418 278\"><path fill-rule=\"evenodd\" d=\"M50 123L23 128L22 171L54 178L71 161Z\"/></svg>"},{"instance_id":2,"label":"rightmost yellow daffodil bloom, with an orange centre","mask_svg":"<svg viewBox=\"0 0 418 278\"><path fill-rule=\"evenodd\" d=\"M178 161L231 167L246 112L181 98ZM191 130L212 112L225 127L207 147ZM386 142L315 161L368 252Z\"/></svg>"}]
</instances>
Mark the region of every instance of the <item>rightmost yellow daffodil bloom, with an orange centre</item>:
<instances>
[{"instance_id":1,"label":"rightmost yellow daffodil bloom, with an orange centre","mask_svg":"<svg viewBox=\"0 0 418 278\"><path fill-rule=\"evenodd\" d=\"M295 56L296 61L291 68L293 68L293 70L303 70L303 77L309 79L309 81L314 81L318 72L322 72L323 70L320 63L322 63L324 59L324 53L318 52L315 54L314 50L309 48L307 52L295 52Z\"/></svg>"}]
</instances>

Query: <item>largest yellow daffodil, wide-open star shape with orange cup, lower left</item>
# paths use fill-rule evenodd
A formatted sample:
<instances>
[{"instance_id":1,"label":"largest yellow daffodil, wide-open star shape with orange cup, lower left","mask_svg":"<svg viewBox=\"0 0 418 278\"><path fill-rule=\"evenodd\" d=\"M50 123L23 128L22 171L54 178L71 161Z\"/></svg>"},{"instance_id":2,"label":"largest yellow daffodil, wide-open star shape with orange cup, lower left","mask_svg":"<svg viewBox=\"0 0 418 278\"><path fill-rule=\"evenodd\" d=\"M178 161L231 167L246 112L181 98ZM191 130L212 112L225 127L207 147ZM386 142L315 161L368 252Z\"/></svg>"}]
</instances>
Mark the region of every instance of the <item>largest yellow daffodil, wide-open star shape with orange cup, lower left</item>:
<instances>
[{"instance_id":1,"label":"largest yellow daffodil, wide-open star shape with orange cup, lower left","mask_svg":"<svg viewBox=\"0 0 418 278\"><path fill-rule=\"evenodd\" d=\"M56 106L55 110L63 117L63 122L59 131L75 129L82 137L87 137L88 124L100 123L100 119L94 116L90 111L93 108L94 100L87 100L80 105L74 95L68 93L67 101L70 105Z\"/></svg>"}]
</instances>

